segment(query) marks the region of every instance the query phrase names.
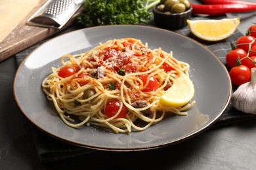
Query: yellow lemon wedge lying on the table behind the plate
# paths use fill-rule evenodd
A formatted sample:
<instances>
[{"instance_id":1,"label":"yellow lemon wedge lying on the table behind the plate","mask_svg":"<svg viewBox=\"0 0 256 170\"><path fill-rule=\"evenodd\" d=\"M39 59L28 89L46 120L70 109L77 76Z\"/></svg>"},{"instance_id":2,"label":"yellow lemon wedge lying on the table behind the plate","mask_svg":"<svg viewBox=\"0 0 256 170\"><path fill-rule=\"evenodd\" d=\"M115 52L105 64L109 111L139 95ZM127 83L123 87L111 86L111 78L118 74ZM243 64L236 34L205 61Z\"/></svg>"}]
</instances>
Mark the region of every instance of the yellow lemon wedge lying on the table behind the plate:
<instances>
[{"instance_id":1,"label":"yellow lemon wedge lying on the table behind the plate","mask_svg":"<svg viewBox=\"0 0 256 170\"><path fill-rule=\"evenodd\" d=\"M222 20L186 20L190 31L196 37L206 41L226 39L240 24L240 18L225 18Z\"/></svg>"}]
</instances>

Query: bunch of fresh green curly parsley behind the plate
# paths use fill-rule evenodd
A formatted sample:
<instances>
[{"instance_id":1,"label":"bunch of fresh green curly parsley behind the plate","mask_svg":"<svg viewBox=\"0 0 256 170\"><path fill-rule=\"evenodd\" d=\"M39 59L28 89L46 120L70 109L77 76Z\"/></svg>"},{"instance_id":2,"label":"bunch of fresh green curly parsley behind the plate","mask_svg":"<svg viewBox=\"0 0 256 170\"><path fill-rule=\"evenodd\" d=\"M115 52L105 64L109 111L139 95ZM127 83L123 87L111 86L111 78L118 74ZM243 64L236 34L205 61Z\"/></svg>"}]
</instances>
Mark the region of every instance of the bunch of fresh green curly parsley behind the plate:
<instances>
[{"instance_id":1,"label":"bunch of fresh green curly parsley behind the plate","mask_svg":"<svg viewBox=\"0 0 256 170\"><path fill-rule=\"evenodd\" d=\"M144 2L142 0L85 0L85 11L77 17L77 22L85 27L145 24L150 20L151 13L148 12L148 7L143 5Z\"/></svg>"}]
</instances>

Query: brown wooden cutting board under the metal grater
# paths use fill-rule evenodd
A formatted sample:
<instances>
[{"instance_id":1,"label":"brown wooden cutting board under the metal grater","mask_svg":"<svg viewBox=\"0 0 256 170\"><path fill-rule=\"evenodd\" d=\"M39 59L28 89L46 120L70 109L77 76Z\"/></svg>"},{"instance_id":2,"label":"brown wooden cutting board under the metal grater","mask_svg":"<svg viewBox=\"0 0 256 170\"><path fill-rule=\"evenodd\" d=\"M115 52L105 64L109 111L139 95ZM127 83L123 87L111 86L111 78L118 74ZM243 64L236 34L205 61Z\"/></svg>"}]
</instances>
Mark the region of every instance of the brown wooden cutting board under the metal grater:
<instances>
[{"instance_id":1,"label":"brown wooden cutting board under the metal grater","mask_svg":"<svg viewBox=\"0 0 256 170\"><path fill-rule=\"evenodd\" d=\"M45 27L35 27L31 25L26 25L28 19L46 2L47 0L40 0L37 7L35 7L20 24L10 33L6 39L0 43L0 61L14 56L14 54L25 50L26 48L36 44L43 39L47 39L51 35L54 35L70 25L74 24L77 15L83 12L84 5L81 6L79 10L72 16L62 29L53 29Z\"/></svg>"}]
</instances>

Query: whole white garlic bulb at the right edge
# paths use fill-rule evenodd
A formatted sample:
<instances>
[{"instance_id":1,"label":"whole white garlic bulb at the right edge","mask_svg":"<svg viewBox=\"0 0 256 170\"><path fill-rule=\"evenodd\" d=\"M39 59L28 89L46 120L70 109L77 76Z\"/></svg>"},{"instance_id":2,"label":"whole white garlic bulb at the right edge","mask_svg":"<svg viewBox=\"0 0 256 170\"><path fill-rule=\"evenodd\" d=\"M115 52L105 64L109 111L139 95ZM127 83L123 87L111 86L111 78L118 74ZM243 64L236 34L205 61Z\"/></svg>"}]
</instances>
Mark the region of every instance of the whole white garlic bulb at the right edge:
<instances>
[{"instance_id":1,"label":"whole white garlic bulb at the right edge","mask_svg":"<svg viewBox=\"0 0 256 170\"><path fill-rule=\"evenodd\" d=\"M256 114L256 68L251 69L251 80L238 87L231 103L242 112Z\"/></svg>"}]
</instances>

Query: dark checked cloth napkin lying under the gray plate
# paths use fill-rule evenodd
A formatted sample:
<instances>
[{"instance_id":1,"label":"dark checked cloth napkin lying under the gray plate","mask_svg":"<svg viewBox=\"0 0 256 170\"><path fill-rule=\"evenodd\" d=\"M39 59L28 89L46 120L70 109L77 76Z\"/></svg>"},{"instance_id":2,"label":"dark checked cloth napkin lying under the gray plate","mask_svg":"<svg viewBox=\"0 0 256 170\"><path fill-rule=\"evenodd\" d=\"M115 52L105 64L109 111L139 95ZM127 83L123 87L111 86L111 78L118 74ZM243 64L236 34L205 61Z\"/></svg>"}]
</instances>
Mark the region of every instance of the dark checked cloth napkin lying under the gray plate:
<instances>
[{"instance_id":1,"label":"dark checked cloth napkin lying under the gray plate","mask_svg":"<svg viewBox=\"0 0 256 170\"><path fill-rule=\"evenodd\" d=\"M221 18L226 18L226 16L217 16L217 17L215 16L212 19L221 19ZM208 16L205 16L205 17L197 16L192 18L192 20L200 20L200 19L211 19L211 18L209 18ZM72 30L74 30L74 28L67 29L64 32L68 32ZM202 43L205 47L209 48L209 50L211 50L224 64L226 64L226 59L225 59L226 54L231 50L230 42L236 41L236 39L238 39L243 35L243 33L237 30L230 37L228 37L223 41L207 42L207 41L202 41L197 37L195 37L194 35L192 35L192 33L190 33L188 26L182 29L173 30L173 31L180 33L181 35L186 35L187 37L190 37ZM32 50L37 48L37 46L39 46L40 44L41 43L35 44L34 46L16 54L16 61L18 65L23 61L24 58L26 58L26 56L28 56L28 54L30 54L30 52L32 52ZM245 120L251 120L252 118L256 118L256 116L253 114L245 114L243 112L240 112L239 110L234 109L230 104L228 106L228 109L226 109L224 114L221 116L221 118L219 118L219 120L210 129L222 127L222 126L228 126L230 124L234 124L236 122L241 122ZM66 158L81 156L81 155L89 154L91 152L96 151L93 149L83 148L81 146L75 146L72 144L64 143L63 141L59 141L54 137L51 137L50 135L43 133L43 131L37 129L33 125L32 125L32 132L33 132L35 147L37 149L39 159L42 162L64 160Z\"/></svg>"}]
</instances>

